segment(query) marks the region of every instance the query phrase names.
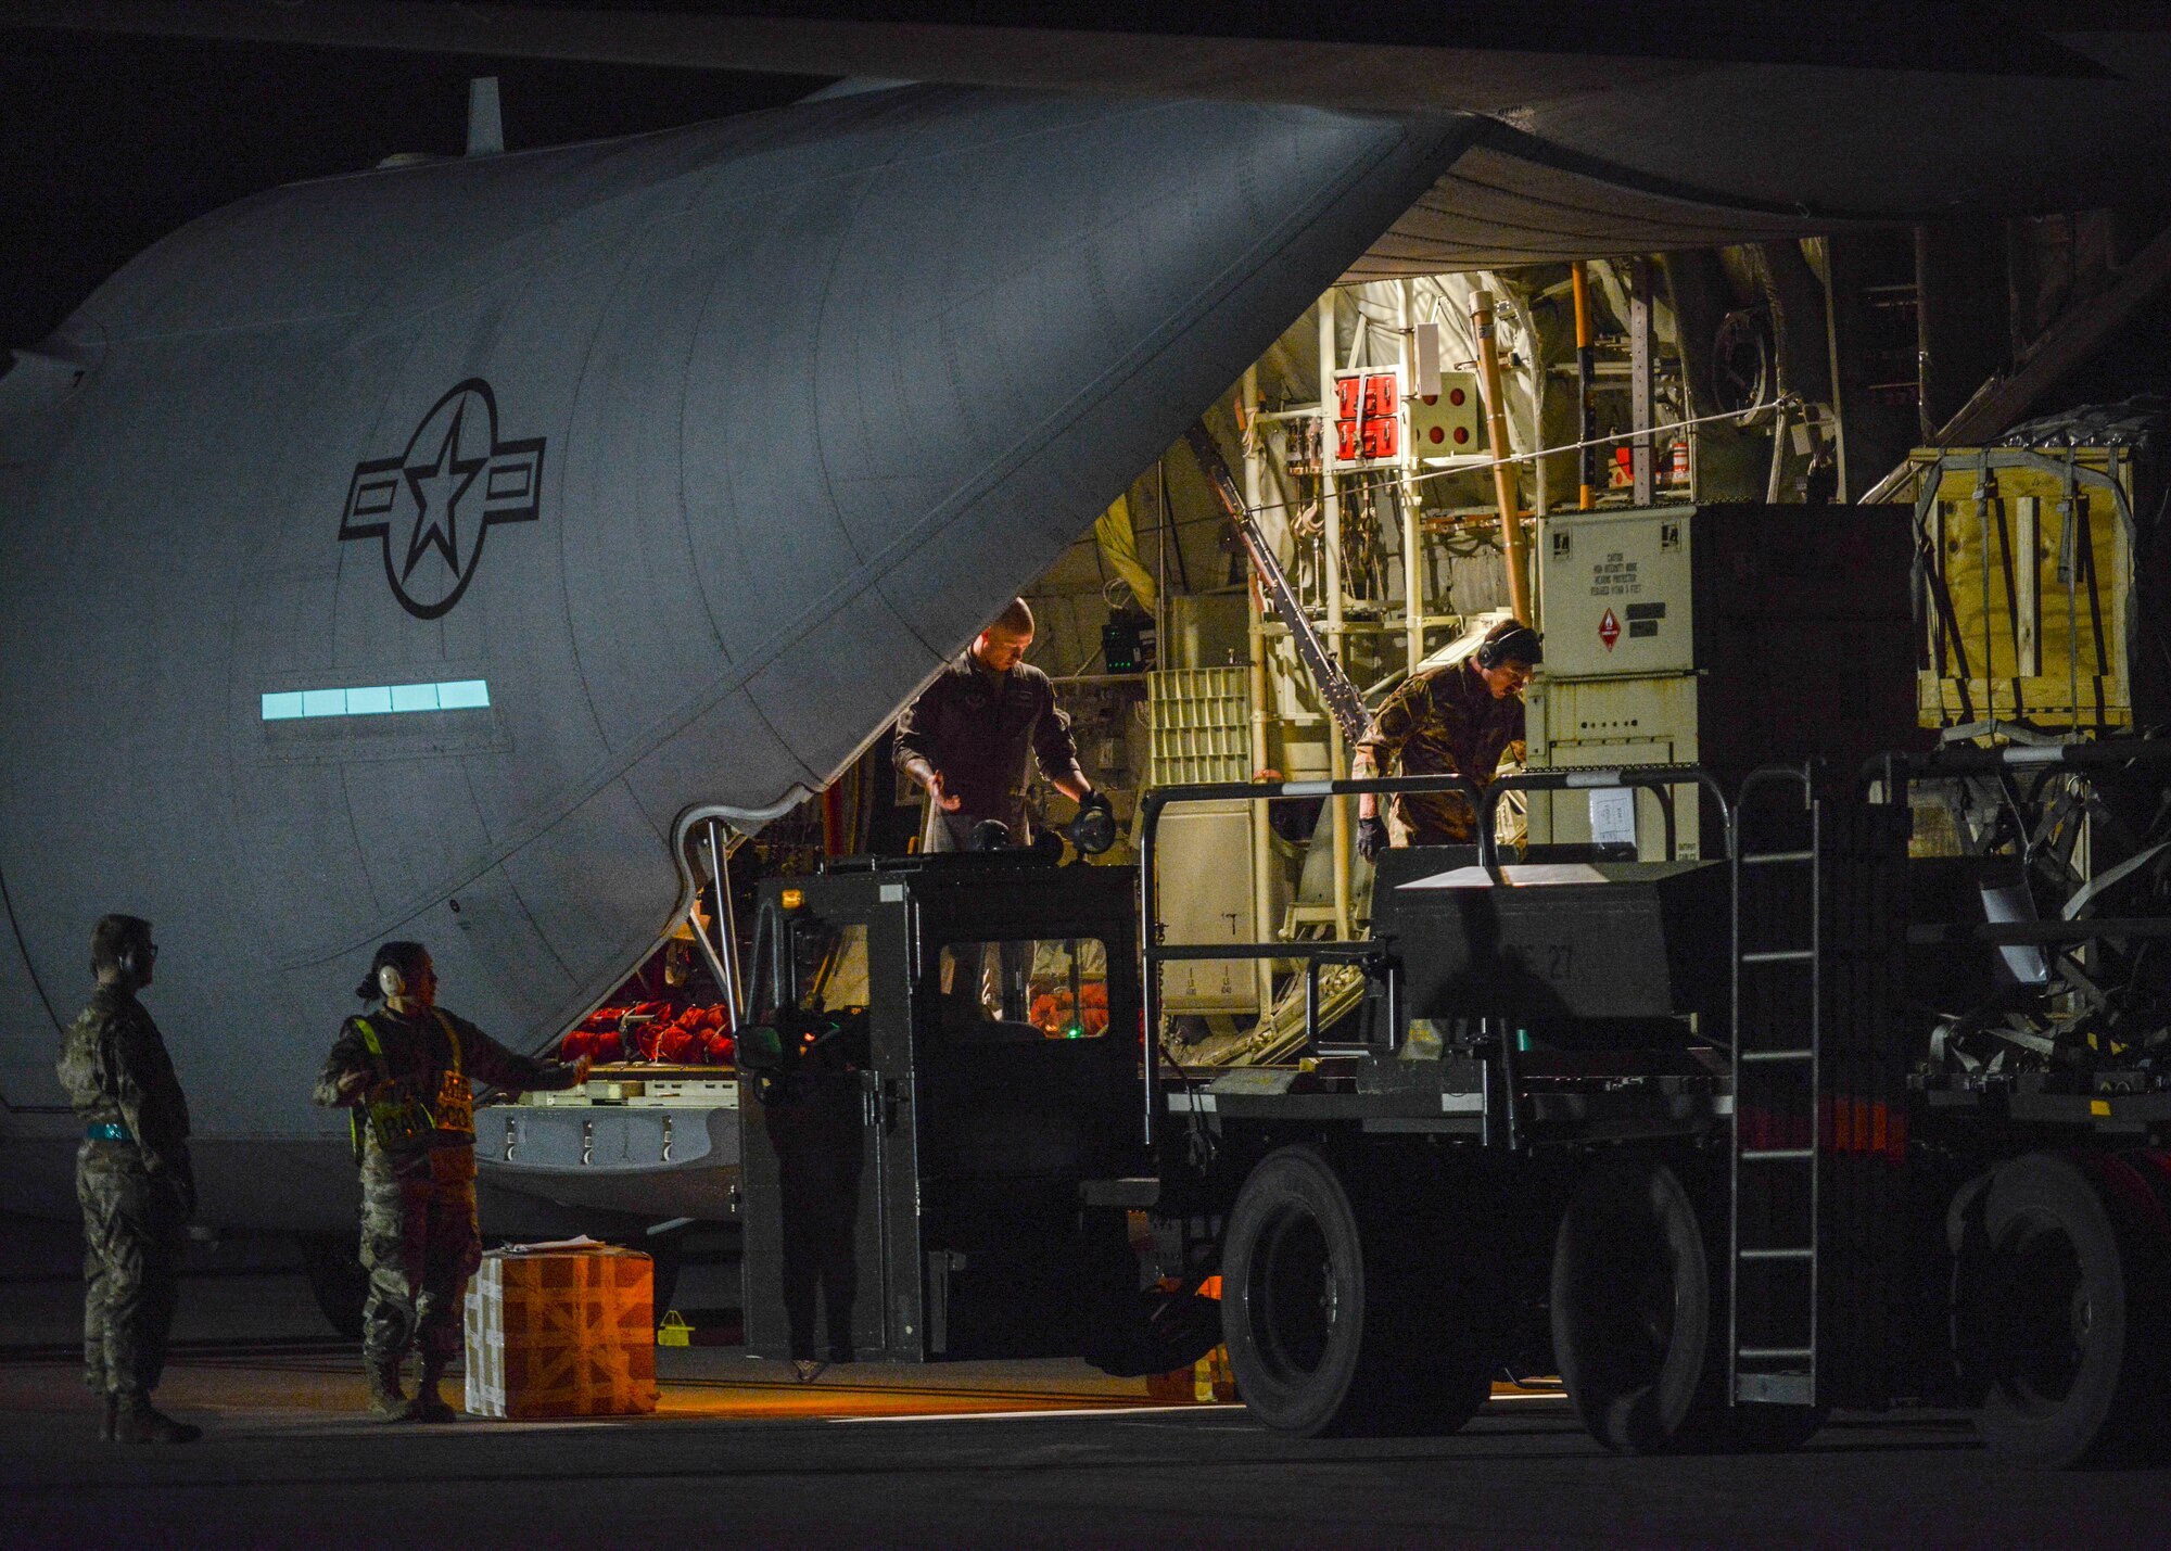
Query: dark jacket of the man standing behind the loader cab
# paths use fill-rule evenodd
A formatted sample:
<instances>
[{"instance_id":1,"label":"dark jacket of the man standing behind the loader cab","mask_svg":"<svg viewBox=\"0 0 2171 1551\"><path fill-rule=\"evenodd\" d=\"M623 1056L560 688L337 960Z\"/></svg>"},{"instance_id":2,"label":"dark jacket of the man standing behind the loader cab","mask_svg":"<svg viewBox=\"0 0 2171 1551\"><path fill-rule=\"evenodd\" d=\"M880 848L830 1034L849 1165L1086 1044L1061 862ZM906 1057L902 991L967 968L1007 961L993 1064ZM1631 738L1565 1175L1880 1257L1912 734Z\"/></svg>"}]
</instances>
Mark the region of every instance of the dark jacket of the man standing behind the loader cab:
<instances>
[{"instance_id":1,"label":"dark jacket of the man standing behind the loader cab","mask_svg":"<svg viewBox=\"0 0 2171 1551\"><path fill-rule=\"evenodd\" d=\"M936 676L897 717L897 769L927 760L962 819L1001 819L1018 830L1025 812L1027 758L1053 780L1083 782L1070 717L1055 704L1055 684L1031 663L990 673L966 652ZM1023 838L1023 836L1020 836Z\"/></svg>"}]
</instances>

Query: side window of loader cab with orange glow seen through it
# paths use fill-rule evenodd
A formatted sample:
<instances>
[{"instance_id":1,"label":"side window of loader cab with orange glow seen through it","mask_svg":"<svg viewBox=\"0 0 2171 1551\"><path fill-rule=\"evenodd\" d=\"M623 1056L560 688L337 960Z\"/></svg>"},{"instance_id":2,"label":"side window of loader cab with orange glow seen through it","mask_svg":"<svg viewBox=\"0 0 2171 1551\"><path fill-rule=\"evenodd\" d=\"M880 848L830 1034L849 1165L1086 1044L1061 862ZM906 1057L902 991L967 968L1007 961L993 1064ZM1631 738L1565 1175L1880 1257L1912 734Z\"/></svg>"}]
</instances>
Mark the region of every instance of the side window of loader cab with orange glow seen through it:
<instances>
[{"instance_id":1,"label":"side window of loader cab with orange glow seen through it","mask_svg":"<svg viewBox=\"0 0 2171 1551\"><path fill-rule=\"evenodd\" d=\"M1092 936L947 943L936 964L942 1032L966 1045L1107 1034L1107 945Z\"/></svg>"}]
</instances>

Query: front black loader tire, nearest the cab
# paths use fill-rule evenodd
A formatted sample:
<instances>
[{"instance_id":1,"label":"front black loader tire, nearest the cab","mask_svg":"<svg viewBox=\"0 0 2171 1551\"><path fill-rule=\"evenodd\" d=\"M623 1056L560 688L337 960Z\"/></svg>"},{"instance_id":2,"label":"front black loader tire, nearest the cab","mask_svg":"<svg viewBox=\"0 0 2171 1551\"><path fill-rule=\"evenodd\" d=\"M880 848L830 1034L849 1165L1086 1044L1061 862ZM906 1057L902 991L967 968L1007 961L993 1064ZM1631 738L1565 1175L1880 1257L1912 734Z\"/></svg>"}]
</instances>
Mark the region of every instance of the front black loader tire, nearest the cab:
<instances>
[{"instance_id":1,"label":"front black loader tire, nearest the cab","mask_svg":"<svg viewBox=\"0 0 2171 1551\"><path fill-rule=\"evenodd\" d=\"M1496 1360L1435 1275L1439 1245L1353 1201L1316 1147L1268 1153L1222 1240L1222 1340L1244 1405L1277 1432L1448 1434L1491 1397Z\"/></svg>"}]
</instances>

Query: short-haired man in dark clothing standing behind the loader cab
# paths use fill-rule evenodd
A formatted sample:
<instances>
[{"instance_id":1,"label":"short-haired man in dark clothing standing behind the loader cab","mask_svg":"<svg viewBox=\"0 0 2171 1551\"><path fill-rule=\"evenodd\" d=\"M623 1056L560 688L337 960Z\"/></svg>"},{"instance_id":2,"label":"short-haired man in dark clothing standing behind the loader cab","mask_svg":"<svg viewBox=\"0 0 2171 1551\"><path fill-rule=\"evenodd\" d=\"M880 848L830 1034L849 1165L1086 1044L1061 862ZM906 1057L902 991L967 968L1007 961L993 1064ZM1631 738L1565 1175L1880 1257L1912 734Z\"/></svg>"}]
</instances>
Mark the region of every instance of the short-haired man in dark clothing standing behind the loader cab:
<instances>
[{"instance_id":1,"label":"short-haired man in dark clothing standing behind the loader cab","mask_svg":"<svg viewBox=\"0 0 2171 1551\"><path fill-rule=\"evenodd\" d=\"M927 791L923 852L970 849L973 830L990 819L1010 830L1012 845L1025 845L1027 758L1079 808L1107 810L1079 769L1055 684L1025 663L1031 643L1033 613L1016 597L897 717L897 769Z\"/></svg>"}]
</instances>

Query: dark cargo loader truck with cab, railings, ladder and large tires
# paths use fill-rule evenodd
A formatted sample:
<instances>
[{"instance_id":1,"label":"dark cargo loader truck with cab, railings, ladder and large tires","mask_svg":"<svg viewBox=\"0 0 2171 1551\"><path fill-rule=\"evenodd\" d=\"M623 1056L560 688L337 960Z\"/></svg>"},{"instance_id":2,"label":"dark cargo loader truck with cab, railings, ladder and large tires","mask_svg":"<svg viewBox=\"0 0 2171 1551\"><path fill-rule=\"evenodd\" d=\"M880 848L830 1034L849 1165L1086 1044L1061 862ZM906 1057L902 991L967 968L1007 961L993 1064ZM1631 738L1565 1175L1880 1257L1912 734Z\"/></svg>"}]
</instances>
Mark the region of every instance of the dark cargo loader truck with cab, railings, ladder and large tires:
<instances>
[{"instance_id":1,"label":"dark cargo loader truck with cab, railings, ladder and large tires","mask_svg":"<svg viewBox=\"0 0 2171 1551\"><path fill-rule=\"evenodd\" d=\"M1159 789L1135 873L990 852L771 882L740 1045L749 1349L1144 1373L1224 1342L1244 1405L1303 1436L1452 1432L1496 1377L1557 1373L1626 1453L1782 1449L1902 1403L1971 1408L2019 1464L2158 1451L2160 880L2030 919L1984 908L1997 856L1910 858L1908 832L1926 784L2162 791L2167 754L1511 775L1465 786L1483 845L1381 858L1353 943L1161 941L1161 817L1457 778ZM1704 860L1502 860L1502 795L1576 786L1696 802ZM1363 995L1294 1067L1188 1073L1144 1038L1185 958ZM1958 1058L1941 1008L2017 1030L2017 999L2056 1012L2080 982L2123 999L2123 1038Z\"/></svg>"}]
</instances>

